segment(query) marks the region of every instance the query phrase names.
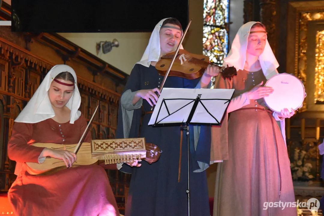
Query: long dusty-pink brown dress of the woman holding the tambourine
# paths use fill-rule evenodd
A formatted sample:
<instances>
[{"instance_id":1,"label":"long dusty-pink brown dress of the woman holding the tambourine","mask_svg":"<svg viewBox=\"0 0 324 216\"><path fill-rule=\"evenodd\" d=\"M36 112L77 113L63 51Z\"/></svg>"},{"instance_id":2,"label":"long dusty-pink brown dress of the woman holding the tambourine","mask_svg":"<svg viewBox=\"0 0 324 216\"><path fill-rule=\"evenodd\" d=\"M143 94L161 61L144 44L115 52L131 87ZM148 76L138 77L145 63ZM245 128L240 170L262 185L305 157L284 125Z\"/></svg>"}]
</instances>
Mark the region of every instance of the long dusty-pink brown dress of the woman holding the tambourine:
<instances>
[{"instance_id":1,"label":"long dusty-pink brown dress of the woman holding the tambourine","mask_svg":"<svg viewBox=\"0 0 324 216\"><path fill-rule=\"evenodd\" d=\"M217 77L215 87L235 89L234 98L261 81L266 82L262 70L239 70L231 81ZM228 160L218 166L214 215L296 215L295 207L264 206L264 202L295 202L287 148L272 112L263 98L237 108L229 114L228 131L212 129L214 137L228 132Z\"/></svg>"}]
</instances>

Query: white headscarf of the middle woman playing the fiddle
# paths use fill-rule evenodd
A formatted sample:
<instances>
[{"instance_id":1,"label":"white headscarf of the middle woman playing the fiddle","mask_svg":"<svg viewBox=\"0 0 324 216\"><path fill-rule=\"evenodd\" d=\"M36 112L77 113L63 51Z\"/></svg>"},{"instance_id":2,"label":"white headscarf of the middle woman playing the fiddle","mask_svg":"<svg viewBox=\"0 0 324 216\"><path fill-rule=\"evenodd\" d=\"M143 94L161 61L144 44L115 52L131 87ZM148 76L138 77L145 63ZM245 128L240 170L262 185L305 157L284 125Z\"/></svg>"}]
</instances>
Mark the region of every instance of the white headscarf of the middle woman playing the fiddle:
<instances>
[{"instance_id":1,"label":"white headscarf of the middle woman playing the fiddle","mask_svg":"<svg viewBox=\"0 0 324 216\"><path fill-rule=\"evenodd\" d=\"M160 60L160 54L161 54L161 46L160 46L160 29L163 24L163 22L168 19L162 19L160 22L158 22L153 29L153 32L151 34L150 40L148 42L148 45L145 49L145 52L141 58L141 61L137 62L136 64L142 64L145 67L149 67L151 62L158 62ZM181 36L183 34L183 31L181 31ZM180 46L180 49L183 49L182 44Z\"/></svg>"}]
</instances>

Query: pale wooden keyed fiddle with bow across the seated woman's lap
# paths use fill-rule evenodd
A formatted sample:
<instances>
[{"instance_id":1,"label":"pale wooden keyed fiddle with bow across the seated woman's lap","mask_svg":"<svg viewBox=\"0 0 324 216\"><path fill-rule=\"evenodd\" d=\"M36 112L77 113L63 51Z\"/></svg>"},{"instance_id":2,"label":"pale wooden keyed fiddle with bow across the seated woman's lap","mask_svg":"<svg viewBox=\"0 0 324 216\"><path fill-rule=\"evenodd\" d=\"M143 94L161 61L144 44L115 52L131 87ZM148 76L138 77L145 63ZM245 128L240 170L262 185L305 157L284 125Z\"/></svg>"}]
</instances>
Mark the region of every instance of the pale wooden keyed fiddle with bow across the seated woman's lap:
<instances>
[{"instance_id":1,"label":"pale wooden keyed fiddle with bow across the seated woman's lap","mask_svg":"<svg viewBox=\"0 0 324 216\"><path fill-rule=\"evenodd\" d=\"M33 146L76 153L77 159L72 167L99 164L101 160L105 161L105 165L107 165L132 163L135 159L142 161L143 158L151 164L159 159L162 151L152 143L145 143L145 138L92 140L91 143L83 142L97 109L98 106L78 144L34 143ZM45 161L41 164L28 162L26 165L27 171L31 175L50 173L51 171L58 171L66 167L63 160L52 157L46 157Z\"/></svg>"}]
</instances>

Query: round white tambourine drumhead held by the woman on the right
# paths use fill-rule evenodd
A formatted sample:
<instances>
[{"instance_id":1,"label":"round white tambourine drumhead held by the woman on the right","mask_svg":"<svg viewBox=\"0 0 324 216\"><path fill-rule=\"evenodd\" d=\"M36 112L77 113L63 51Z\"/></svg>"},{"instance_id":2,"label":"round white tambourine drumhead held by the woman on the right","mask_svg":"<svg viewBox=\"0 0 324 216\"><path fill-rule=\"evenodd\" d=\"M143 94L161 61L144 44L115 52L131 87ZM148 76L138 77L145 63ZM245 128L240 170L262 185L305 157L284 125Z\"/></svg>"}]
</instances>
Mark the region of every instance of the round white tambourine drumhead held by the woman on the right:
<instances>
[{"instance_id":1,"label":"round white tambourine drumhead held by the woman on the right","mask_svg":"<svg viewBox=\"0 0 324 216\"><path fill-rule=\"evenodd\" d=\"M303 83L292 74L274 75L265 86L274 90L268 97L264 97L264 102L275 112L281 112L284 108L289 111L291 108L300 108L306 96Z\"/></svg>"}]
</instances>

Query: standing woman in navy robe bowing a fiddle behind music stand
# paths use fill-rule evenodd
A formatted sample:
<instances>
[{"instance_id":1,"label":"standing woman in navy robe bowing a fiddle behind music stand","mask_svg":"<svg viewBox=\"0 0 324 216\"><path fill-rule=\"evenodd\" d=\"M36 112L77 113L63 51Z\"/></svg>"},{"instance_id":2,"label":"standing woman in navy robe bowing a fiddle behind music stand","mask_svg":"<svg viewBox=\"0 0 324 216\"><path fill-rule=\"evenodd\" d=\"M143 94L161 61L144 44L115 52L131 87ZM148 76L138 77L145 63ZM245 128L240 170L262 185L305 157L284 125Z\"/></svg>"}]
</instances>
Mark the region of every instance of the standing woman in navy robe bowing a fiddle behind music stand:
<instances>
[{"instance_id":1,"label":"standing woman in navy robe bowing a fiddle behind music stand","mask_svg":"<svg viewBox=\"0 0 324 216\"><path fill-rule=\"evenodd\" d=\"M126 204L126 216L164 216L187 215L187 138L181 133L180 126L151 127L151 108L156 105L157 94L163 76L158 74L156 63L161 56L173 52L179 45L182 27L175 18L162 19L154 28L142 59L137 62L130 74L124 92L118 115L116 138L145 137L146 142L159 146L163 153L155 163L134 162L131 166L118 164L120 171L131 173L129 195ZM180 47L182 48L182 47ZM189 80L177 76L168 76L164 87L169 88L207 88L210 87L212 76L219 73L215 65L208 65L201 78ZM142 106L145 115L141 122ZM193 130L190 127L190 130ZM190 132L193 142L191 158L191 214L210 216L206 167L207 164L197 160L195 149L210 157L210 135L201 127L200 133ZM182 136L182 137L181 137ZM196 139L194 139L196 138ZM209 139L209 141L208 141ZM179 145L180 141L182 145ZM209 144L209 146L208 146ZM180 150L179 146L182 146ZM181 155L180 155L181 152ZM179 163L179 157L181 163ZM196 159L196 160L195 160ZM181 164L179 168L179 164ZM139 167L140 166L140 167ZM178 182L179 171L180 181Z\"/></svg>"}]
</instances>

